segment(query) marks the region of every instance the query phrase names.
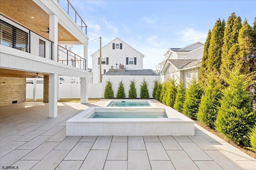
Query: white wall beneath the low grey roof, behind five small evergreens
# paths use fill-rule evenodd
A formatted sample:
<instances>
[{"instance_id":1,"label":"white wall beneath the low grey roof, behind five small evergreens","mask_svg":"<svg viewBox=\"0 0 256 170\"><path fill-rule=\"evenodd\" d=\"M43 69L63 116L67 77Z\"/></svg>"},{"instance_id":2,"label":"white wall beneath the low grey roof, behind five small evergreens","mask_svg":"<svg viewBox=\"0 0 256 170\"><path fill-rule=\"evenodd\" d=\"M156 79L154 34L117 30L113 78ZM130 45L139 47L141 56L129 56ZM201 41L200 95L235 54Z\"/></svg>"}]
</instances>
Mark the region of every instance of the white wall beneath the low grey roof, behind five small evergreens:
<instances>
[{"instance_id":1,"label":"white wall beneath the low grey roof, behind five small evergreens","mask_svg":"<svg viewBox=\"0 0 256 170\"><path fill-rule=\"evenodd\" d=\"M109 79L113 83L113 90L114 90L114 98L116 98L116 93L118 90L118 83L123 80L124 83L124 89L125 89L125 94L126 98L128 98L128 91L130 89L130 80L135 80L136 81L136 88L137 88L137 98L140 98L140 86L143 82L143 79L145 78L146 82L148 82L148 92L150 98L152 98L152 92L154 88L154 80L160 81L160 76L155 75L155 76L134 76L134 75L103 75L102 76L102 97L104 97L104 91L106 87L106 81Z\"/></svg>"}]
</instances>

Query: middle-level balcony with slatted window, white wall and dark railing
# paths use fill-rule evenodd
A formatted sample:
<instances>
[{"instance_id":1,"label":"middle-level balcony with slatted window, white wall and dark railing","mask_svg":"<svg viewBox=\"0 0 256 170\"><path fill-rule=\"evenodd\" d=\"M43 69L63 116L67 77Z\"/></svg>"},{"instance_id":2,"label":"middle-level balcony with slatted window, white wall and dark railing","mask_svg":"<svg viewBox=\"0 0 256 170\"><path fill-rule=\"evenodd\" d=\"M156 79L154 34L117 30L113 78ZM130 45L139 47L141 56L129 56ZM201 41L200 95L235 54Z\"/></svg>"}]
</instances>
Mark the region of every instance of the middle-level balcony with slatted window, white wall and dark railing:
<instances>
[{"instance_id":1,"label":"middle-level balcony with slatted window, white wall and dark railing","mask_svg":"<svg viewBox=\"0 0 256 170\"><path fill-rule=\"evenodd\" d=\"M53 42L1 15L0 45L52 60ZM58 62L86 70L86 60L58 45Z\"/></svg>"}]
</instances>

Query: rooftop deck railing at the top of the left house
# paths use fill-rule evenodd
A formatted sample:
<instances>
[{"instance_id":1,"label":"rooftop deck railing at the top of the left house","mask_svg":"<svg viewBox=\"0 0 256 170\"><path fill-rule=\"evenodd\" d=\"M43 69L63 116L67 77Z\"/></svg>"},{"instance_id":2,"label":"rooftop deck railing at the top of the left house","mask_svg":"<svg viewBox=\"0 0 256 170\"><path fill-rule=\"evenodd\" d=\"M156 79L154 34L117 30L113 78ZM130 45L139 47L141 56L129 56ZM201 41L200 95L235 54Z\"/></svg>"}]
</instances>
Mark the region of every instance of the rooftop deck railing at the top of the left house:
<instances>
[{"instance_id":1,"label":"rooftop deck railing at the top of the left house","mask_svg":"<svg viewBox=\"0 0 256 170\"><path fill-rule=\"evenodd\" d=\"M84 31L87 35L87 25L75 8L72 6L69 0L58 0L58 3L68 13L68 15L76 22L76 24Z\"/></svg>"}]
</instances>

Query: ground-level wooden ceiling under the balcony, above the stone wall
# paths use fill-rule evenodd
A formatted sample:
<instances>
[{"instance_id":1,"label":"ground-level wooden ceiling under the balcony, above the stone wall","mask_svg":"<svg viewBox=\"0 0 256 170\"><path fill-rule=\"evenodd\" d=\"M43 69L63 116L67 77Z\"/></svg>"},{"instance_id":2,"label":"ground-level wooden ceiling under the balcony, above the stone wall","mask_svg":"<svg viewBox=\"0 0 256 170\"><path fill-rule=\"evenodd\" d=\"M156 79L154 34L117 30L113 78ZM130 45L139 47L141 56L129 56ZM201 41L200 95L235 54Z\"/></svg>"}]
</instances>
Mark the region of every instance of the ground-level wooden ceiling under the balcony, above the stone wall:
<instances>
[{"instance_id":1,"label":"ground-level wooden ceiling under the balcony, above the stone wall","mask_svg":"<svg viewBox=\"0 0 256 170\"><path fill-rule=\"evenodd\" d=\"M43 74L43 73L36 74L36 72L27 72L27 71L0 68L0 77L34 78L34 77L37 77L37 75L39 77L44 77L44 75L49 75L49 74Z\"/></svg>"}]
</instances>

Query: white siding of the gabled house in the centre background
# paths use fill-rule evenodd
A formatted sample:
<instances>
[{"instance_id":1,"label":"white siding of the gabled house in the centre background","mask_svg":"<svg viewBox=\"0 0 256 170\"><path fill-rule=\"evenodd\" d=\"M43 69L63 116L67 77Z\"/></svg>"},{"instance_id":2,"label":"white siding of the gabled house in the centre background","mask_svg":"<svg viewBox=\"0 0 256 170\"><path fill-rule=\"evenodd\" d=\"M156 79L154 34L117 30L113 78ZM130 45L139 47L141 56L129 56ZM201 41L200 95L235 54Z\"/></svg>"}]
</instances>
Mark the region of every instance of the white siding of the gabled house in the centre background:
<instances>
[{"instance_id":1,"label":"white siding of the gabled house in the centre background","mask_svg":"<svg viewBox=\"0 0 256 170\"><path fill-rule=\"evenodd\" d=\"M122 49L112 49L112 43L120 44L122 43ZM99 82L99 64L98 57L100 57L100 51L97 51L92 56L92 72L93 72L93 83ZM116 68L116 64L118 64L117 68L119 68L119 64L124 65L128 70L142 70L143 66L143 55L136 51L134 48L130 47L120 39L114 39L104 47L102 47L102 58L108 57L108 65L102 64L102 74L104 73L104 69L106 72L113 66ZM126 57L134 58L136 57L136 65L128 64L126 65Z\"/></svg>"}]
</instances>

